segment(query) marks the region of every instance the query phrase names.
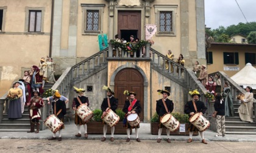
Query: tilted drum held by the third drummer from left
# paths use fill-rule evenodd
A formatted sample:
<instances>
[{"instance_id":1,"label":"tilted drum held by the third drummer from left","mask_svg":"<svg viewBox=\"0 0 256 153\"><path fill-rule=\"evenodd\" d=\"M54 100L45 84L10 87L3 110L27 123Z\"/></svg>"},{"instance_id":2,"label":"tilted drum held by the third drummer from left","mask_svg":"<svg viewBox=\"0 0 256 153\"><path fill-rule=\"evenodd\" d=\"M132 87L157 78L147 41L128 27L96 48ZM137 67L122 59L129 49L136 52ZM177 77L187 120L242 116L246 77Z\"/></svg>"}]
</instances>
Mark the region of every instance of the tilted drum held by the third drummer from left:
<instances>
[{"instance_id":1,"label":"tilted drum held by the third drummer from left","mask_svg":"<svg viewBox=\"0 0 256 153\"><path fill-rule=\"evenodd\" d=\"M113 112L113 110L108 109L104 115L101 116L101 119L105 121L110 127L115 126L120 120L120 117Z\"/></svg>"}]
</instances>

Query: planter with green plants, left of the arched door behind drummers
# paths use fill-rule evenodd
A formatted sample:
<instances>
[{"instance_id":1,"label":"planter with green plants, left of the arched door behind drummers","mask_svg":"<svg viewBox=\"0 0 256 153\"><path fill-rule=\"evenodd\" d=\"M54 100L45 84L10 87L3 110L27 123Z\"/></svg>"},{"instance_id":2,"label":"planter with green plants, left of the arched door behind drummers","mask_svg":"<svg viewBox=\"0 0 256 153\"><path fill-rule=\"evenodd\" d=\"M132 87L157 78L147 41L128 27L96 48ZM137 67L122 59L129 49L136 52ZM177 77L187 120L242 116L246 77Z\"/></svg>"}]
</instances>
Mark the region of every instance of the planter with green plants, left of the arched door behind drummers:
<instances>
[{"instance_id":1,"label":"planter with green plants, left of the arched door behind drummers","mask_svg":"<svg viewBox=\"0 0 256 153\"><path fill-rule=\"evenodd\" d=\"M126 129L123 127L123 120L125 113L121 109L116 109L116 115L120 117L118 123L115 125L115 134L126 134ZM88 134L103 134L102 110L93 110L93 118L87 122ZM110 127L107 129L107 134L111 134Z\"/></svg>"}]
</instances>

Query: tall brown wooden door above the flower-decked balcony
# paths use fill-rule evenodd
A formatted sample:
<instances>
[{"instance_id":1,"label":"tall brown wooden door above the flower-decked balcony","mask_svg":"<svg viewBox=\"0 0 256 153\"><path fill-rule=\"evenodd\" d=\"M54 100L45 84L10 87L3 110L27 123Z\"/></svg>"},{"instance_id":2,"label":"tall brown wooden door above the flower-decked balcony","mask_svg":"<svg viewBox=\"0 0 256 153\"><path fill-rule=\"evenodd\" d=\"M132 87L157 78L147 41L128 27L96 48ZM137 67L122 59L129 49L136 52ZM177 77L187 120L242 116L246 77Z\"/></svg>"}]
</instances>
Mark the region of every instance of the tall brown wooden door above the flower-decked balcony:
<instances>
[{"instance_id":1,"label":"tall brown wooden door above the flower-decked balcony","mask_svg":"<svg viewBox=\"0 0 256 153\"><path fill-rule=\"evenodd\" d=\"M141 12L119 11L118 12L118 35L121 36L121 30L137 30L136 38L141 39ZM132 33L130 34L132 35ZM130 36L128 36L130 37ZM130 39L126 39L127 42Z\"/></svg>"}]
</instances>

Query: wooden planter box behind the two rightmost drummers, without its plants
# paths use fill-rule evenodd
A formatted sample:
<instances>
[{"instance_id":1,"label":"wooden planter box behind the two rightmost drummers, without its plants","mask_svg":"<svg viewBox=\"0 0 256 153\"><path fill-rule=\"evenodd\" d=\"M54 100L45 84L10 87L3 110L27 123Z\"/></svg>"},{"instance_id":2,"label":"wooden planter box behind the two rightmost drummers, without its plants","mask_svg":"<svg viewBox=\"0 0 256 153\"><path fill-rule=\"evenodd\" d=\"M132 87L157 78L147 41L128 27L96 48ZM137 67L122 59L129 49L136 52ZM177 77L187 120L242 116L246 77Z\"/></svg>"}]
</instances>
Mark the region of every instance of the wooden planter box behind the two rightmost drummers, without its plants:
<instances>
[{"instance_id":1,"label":"wooden planter box behind the two rightmost drummers, without its plants","mask_svg":"<svg viewBox=\"0 0 256 153\"><path fill-rule=\"evenodd\" d=\"M187 128L188 128L188 123L185 123L186 132L180 132L179 130L177 130L176 132L170 132L170 135L190 135L190 132L187 131ZM158 135L158 122L151 122L151 134ZM166 135L166 130L163 130L162 134ZM193 135L198 135L198 132L194 132Z\"/></svg>"}]
</instances>

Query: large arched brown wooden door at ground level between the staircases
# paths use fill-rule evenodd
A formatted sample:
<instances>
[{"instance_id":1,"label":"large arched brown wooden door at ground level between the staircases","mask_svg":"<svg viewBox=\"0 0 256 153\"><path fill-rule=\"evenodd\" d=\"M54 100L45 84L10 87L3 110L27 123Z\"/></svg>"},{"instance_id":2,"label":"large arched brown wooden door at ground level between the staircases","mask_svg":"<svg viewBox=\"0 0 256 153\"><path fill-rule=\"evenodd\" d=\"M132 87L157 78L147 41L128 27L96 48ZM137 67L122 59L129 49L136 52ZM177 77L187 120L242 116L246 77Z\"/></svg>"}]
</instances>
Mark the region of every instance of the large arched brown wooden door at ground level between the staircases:
<instances>
[{"instance_id":1,"label":"large arched brown wooden door at ground level between the staircases","mask_svg":"<svg viewBox=\"0 0 256 153\"><path fill-rule=\"evenodd\" d=\"M115 77L115 97L118 98L118 108L123 109L124 102L128 97L124 95L124 90L135 92L136 99L140 100L141 113L140 120L144 120L144 79L136 69L126 68L120 70Z\"/></svg>"}]
</instances>

